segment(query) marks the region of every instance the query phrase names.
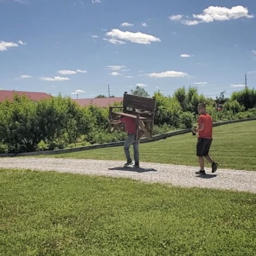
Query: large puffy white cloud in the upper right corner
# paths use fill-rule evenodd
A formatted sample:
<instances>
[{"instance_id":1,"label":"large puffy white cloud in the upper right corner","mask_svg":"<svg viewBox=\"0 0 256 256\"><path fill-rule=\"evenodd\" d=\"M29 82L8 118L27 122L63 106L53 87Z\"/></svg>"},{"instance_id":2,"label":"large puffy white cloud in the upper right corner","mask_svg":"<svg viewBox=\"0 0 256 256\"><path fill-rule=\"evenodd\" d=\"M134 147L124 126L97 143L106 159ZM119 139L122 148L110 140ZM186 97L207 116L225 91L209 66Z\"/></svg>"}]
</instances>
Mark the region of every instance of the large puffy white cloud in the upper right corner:
<instances>
[{"instance_id":1,"label":"large puffy white cloud in the upper right corner","mask_svg":"<svg viewBox=\"0 0 256 256\"><path fill-rule=\"evenodd\" d=\"M209 6L201 14L193 14L195 20L181 20L185 25L197 25L199 23L210 23L215 21L224 21L239 18L253 18L248 14L248 9L243 6L233 6L231 8L220 6Z\"/></svg>"}]
</instances>

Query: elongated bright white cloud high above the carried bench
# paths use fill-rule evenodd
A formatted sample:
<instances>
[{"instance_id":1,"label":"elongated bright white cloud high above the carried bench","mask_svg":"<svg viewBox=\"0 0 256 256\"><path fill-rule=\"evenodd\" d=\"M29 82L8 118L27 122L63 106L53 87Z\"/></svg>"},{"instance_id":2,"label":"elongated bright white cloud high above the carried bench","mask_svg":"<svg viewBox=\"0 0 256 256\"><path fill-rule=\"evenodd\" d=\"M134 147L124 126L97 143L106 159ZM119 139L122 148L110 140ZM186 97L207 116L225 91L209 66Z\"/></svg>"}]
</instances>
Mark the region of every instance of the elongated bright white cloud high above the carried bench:
<instances>
[{"instance_id":1,"label":"elongated bright white cloud high above the carried bench","mask_svg":"<svg viewBox=\"0 0 256 256\"><path fill-rule=\"evenodd\" d=\"M144 34L141 32L130 32L121 31L119 29L112 29L110 32L106 32L106 36L111 37L111 39L126 40L131 42L136 42L137 44L150 45L151 42L160 42L158 37L153 35ZM123 42L123 41L122 41ZM112 42L113 44L114 42Z\"/></svg>"}]
</instances>

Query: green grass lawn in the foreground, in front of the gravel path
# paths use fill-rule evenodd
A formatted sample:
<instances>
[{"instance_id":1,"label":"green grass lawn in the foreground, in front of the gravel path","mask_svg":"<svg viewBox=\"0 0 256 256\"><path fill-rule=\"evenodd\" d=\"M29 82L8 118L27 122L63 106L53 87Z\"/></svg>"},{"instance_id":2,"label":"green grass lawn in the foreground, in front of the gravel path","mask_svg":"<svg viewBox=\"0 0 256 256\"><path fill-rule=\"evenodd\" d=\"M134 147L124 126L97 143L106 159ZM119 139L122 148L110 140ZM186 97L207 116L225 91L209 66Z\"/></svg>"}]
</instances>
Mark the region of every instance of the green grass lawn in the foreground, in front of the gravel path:
<instances>
[{"instance_id":1,"label":"green grass lawn in the foreground, in front of the gravel path","mask_svg":"<svg viewBox=\"0 0 256 256\"><path fill-rule=\"evenodd\" d=\"M0 255L255 255L255 194L7 169L0 187Z\"/></svg>"}]
</instances>

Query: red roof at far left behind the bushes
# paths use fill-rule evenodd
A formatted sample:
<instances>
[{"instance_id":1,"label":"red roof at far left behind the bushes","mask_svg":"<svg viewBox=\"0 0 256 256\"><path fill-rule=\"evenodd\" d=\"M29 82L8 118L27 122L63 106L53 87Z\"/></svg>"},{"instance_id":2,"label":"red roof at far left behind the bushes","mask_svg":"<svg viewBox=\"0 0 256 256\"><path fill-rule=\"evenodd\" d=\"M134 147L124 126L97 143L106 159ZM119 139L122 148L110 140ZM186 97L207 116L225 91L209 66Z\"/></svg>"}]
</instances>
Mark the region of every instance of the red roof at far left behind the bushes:
<instances>
[{"instance_id":1,"label":"red roof at far left behind the bushes","mask_svg":"<svg viewBox=\"0 0 256 256\"><path fill-rule=\"evenodd\" d=\"M3 101L5 99L9 99L10 101L12 101L14 93L16 93L18 96L26 95L27 97L29 97L31 100L34 100L34 101L37 101L40 99L49 99L52 97L50 94L47 94L47 93L0 90L0 101Z\"/></svg>"}]
</instances>

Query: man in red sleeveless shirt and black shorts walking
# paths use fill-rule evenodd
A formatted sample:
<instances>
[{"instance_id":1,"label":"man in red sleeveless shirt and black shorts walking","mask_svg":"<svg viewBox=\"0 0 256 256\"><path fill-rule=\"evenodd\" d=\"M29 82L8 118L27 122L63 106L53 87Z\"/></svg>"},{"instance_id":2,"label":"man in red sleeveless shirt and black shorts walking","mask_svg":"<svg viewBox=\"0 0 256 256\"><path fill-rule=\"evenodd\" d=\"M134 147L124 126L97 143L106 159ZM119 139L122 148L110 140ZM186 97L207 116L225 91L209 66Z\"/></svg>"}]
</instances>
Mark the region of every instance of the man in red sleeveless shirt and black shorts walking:
<instances>
[{"instance_id":1,"label":"man in red sleeveless shirt and black shorts walking","mask_svg":"<svg viewBox=\"0 0 256 256\"><path fill-rule=\"evenodd\" d=\"M200 170L196 174L204 175L204 158L211 164L211 172L215 173L218 168L218 163L214 162L209 156L209 149L212 142L212 119L206 113L206 106L204 103L198 104L198 126L193 129L193 132L198 132L197 141L197 156L200 165Z\"/></svg>"}]
</instances>

